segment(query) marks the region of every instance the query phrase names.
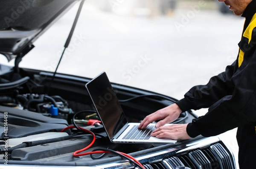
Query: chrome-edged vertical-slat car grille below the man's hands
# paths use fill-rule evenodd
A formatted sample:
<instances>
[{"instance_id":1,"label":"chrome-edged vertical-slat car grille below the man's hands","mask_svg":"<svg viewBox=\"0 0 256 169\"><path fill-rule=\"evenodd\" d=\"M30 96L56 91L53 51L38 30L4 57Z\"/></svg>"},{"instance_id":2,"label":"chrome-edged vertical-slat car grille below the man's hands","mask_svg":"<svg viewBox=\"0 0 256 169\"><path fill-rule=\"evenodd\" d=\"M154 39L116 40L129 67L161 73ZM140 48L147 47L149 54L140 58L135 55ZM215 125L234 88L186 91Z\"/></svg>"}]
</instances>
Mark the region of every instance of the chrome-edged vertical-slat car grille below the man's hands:
<instances>
[{"instance_id":1,"label":"chrome-edged vertical-slat car grille below the man's hands","mask_svg":"<svg viewBox=\"0 0 256 169\"><path fill-rule=\"evenodd\" d=\"M235 169L233 155L221 143L143 166L146 169Z\"/></svg>"}]
</instances>

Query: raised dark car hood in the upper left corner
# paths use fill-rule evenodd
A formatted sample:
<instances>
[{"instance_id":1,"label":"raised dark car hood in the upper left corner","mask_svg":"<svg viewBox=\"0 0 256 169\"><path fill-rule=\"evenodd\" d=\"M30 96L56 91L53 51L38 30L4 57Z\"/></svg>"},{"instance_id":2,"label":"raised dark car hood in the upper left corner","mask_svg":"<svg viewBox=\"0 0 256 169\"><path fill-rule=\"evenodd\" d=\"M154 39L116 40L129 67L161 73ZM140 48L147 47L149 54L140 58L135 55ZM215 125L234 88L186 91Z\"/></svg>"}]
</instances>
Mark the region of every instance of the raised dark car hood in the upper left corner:
<instances>
[{"instance_id":1,"label":"raised dark car hood in the upper left corner","mask_svg":"<svg viewBox=\"0 0 256 169\"><path fill-rule=\"evenodd\" d=\"M78 0L3 0L0 2L0 54L8 61L27 54L35 40ZM51 39L49 39L51 40Z\"/></svg>"}]
</instances>

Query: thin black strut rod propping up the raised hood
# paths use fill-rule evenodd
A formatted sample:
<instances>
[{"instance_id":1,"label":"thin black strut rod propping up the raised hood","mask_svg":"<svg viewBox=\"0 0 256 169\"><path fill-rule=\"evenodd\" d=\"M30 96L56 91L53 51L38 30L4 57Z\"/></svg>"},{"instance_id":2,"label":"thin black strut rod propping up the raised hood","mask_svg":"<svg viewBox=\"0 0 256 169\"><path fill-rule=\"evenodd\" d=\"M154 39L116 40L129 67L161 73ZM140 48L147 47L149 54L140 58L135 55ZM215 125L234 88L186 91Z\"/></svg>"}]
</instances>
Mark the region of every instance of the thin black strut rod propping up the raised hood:
<instances>
[{"instance_id":1,"label":"thin black strut rod propping up the raised hood","mask_svg":"<svg viewBox=\"0 0 256 169\"><path fill-rule=\"evenodd\" d=\"M77 21L78 21L78 18L79 18L79 15L80 15L80 13L81 13L81 10L82 10L83 5L84 5L84 0L82 0L81 3L80 3L80 5L79 5L78 11L77 11L77 13L76 13L75 20L74 20L73 25L72 25L72 28L71 28L71 30L70 30L70 34L68 35L67 40L66 40L66 43L65 43L65 45L64 45L64 50L62 51L61 58L59 59L58 65L57 65L57 67L56 67L56 69L55 69L55 72L53 73L52 79L51 79L51 81L50 81L50 84L49 84L49 87L48 87L48 90L47 90L47 94L49 94L49 91L50 91L51 86L52 86L53 79L55 78L55 75L56 75L57 70L58 70L58 66L59 66L60 63L61 63L61 59L62 59L62 57L63 57L63 55L64 55L64 52L65 52L66 48L68 47L68 45L70 44L70 40L71 40L72 35L73 35L73 33L74 33L74 30L75 30L75 28L76 28L76 23L77 23Z\"/></svg>"}]
</instances>

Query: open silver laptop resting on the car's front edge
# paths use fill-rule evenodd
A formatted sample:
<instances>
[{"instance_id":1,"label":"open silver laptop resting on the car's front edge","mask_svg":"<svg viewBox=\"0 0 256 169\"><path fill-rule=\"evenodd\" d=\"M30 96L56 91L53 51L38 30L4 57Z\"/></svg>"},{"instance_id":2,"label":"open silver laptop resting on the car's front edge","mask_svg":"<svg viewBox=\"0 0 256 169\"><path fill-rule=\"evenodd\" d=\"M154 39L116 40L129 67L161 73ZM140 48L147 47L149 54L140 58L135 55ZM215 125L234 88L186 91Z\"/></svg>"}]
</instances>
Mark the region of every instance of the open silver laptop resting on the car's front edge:
<instances>
[{"instance_id":1,"label":"open silver laptop resting on the car's front edge","mask_svg":"<svg viewBox=\"0 0 256 169\"><path fill-rule=\"evenodd\" d=\"M176 143L176 140L152 137L150 134L156 129L153 123L144 130L138 129L140 123L128 123L105 72L85 87L112 143Z\"/></svg>"}]
</instances>

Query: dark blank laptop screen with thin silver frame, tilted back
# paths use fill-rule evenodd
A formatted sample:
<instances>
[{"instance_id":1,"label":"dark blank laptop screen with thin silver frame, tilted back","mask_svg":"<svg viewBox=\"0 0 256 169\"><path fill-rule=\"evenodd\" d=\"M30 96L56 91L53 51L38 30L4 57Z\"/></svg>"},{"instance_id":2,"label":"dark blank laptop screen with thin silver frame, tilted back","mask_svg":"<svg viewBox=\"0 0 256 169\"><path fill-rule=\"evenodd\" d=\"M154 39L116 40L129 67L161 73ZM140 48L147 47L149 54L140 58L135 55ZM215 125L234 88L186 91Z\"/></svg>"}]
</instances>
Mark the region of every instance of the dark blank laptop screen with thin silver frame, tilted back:
<instances>
[{"instance_id":1,"label":"dark blank laptop screen with thin silver frame, tilted back","mask_svg":"<svg viewBox=\"0 0 256 169\"><path fill-rule=\"evenodd\" d=\"M128 122L105 72L86 84L88 93L110 139Z\"/></svg>"}]
</instances>

